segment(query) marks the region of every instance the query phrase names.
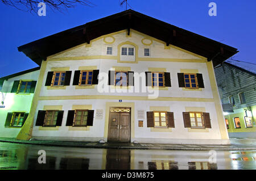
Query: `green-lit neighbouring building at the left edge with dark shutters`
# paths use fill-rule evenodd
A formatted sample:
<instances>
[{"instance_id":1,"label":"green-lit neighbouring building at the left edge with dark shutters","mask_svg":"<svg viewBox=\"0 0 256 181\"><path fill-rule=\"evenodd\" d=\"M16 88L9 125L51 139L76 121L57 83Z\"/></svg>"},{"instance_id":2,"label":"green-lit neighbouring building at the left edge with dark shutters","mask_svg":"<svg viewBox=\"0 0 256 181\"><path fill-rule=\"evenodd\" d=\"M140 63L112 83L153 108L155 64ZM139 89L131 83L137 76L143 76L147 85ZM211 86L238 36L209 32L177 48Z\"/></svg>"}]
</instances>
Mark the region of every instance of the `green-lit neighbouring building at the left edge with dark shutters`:
<instances>
[{"instance_id":1,"label":"green-lit neighbouring building at the left edge with dark shutters","mask_svg":"<svg viewBox=\"0 0 256 181\"><path fill-rule=\"evenodd\" d=\"M30 112L40 67L0 78L0 137L16 137Z\"/></svg>"}]
</instances>

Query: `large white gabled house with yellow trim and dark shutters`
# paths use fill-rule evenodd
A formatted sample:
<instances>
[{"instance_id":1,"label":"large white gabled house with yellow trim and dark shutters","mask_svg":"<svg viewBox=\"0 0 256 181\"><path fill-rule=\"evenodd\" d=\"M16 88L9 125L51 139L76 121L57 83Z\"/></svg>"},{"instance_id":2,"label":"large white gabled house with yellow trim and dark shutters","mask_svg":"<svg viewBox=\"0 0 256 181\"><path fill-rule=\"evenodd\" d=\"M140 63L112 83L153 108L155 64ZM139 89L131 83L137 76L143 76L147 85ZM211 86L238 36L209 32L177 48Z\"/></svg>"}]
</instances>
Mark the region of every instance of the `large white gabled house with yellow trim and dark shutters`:
<instances>
[{"instance_id":1,"label":"large white gabled house with yellow trim and dark shutters","mask_svg":"<svg viewBox=\"0 0 256 181\"><path fill-rule=\"evenodd\" d=\"M229 144L213 66L236 48L127 10L18 49L41 66L18 139Z\"/></svg>"}]
</instances>

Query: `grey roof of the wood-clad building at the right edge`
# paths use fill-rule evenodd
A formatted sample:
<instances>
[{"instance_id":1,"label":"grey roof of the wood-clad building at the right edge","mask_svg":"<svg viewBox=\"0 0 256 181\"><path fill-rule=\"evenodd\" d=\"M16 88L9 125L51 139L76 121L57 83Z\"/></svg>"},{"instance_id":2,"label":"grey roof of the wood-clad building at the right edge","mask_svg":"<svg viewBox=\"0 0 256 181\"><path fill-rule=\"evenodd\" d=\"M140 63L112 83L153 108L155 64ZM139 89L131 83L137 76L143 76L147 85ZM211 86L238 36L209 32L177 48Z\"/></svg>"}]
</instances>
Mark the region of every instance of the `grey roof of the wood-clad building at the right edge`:
<instances>
[{"instance_id":1,"label":"grey roof of the wood-clad building at the right edge","mask_svg":"<svg viewBox=\"0 0 256 181\"><path fill-rule=\"evenodd\" d=\"M234 68L245 71L246 73L256 76L256 64L240 61L240 60L230 60L230 59L226 60L224 63L227 65L233 66Z\"/></svg>"}]
</instances>

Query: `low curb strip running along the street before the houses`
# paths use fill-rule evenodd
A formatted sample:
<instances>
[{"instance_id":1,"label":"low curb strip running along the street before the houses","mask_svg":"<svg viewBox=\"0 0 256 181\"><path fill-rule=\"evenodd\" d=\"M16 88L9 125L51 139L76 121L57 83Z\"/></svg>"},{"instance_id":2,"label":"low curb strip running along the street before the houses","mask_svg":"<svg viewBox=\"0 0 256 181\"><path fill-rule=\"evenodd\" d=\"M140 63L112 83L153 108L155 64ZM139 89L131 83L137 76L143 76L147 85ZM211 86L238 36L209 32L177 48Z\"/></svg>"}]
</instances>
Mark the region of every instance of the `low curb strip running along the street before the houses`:
<instances>
[{"instance_id":1,"label":"low curb strip running along the street before the houses","mask_svg":"<svg viewBox=\"0 0 256 181\"><path fill-rule=\"evenodd\" d=\"M11 142L16 144L29 144L29 145L42 145L42 146L60 146L60 147L76 147L76 148L100 148L100 149L144 149L144 150L256 150L255 147L247 148L184 148L184 147L171 147L171 146L110 146L110 145L72 145L72 144L51 144L51 143L38 143L38 142L24 142L24 141L7 141L0 140L0 142Z\"/></svg>"}]
</instances>

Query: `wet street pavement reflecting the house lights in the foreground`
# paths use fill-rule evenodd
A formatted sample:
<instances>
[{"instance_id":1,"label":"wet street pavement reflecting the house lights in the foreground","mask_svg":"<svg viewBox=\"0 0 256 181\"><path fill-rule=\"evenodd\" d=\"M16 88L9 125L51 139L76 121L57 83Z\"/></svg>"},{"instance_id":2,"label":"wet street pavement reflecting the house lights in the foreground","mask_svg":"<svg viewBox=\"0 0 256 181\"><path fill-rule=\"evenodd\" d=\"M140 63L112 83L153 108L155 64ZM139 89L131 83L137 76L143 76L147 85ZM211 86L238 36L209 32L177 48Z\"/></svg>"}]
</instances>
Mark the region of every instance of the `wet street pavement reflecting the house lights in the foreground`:
<instances>
[{"instance_id":1,"label":"wet street pavement reflecting the house lights in the foreground","mask_svg":"<svg viewBox=\"0 0 256 181\"><path fill-rule=\"evenodd\" d=\"M45 151L46 163L38 162L39 150ZM256 150L94 149L0 142L0 169L255 170Z\"/></svg>"}]
</instances>

